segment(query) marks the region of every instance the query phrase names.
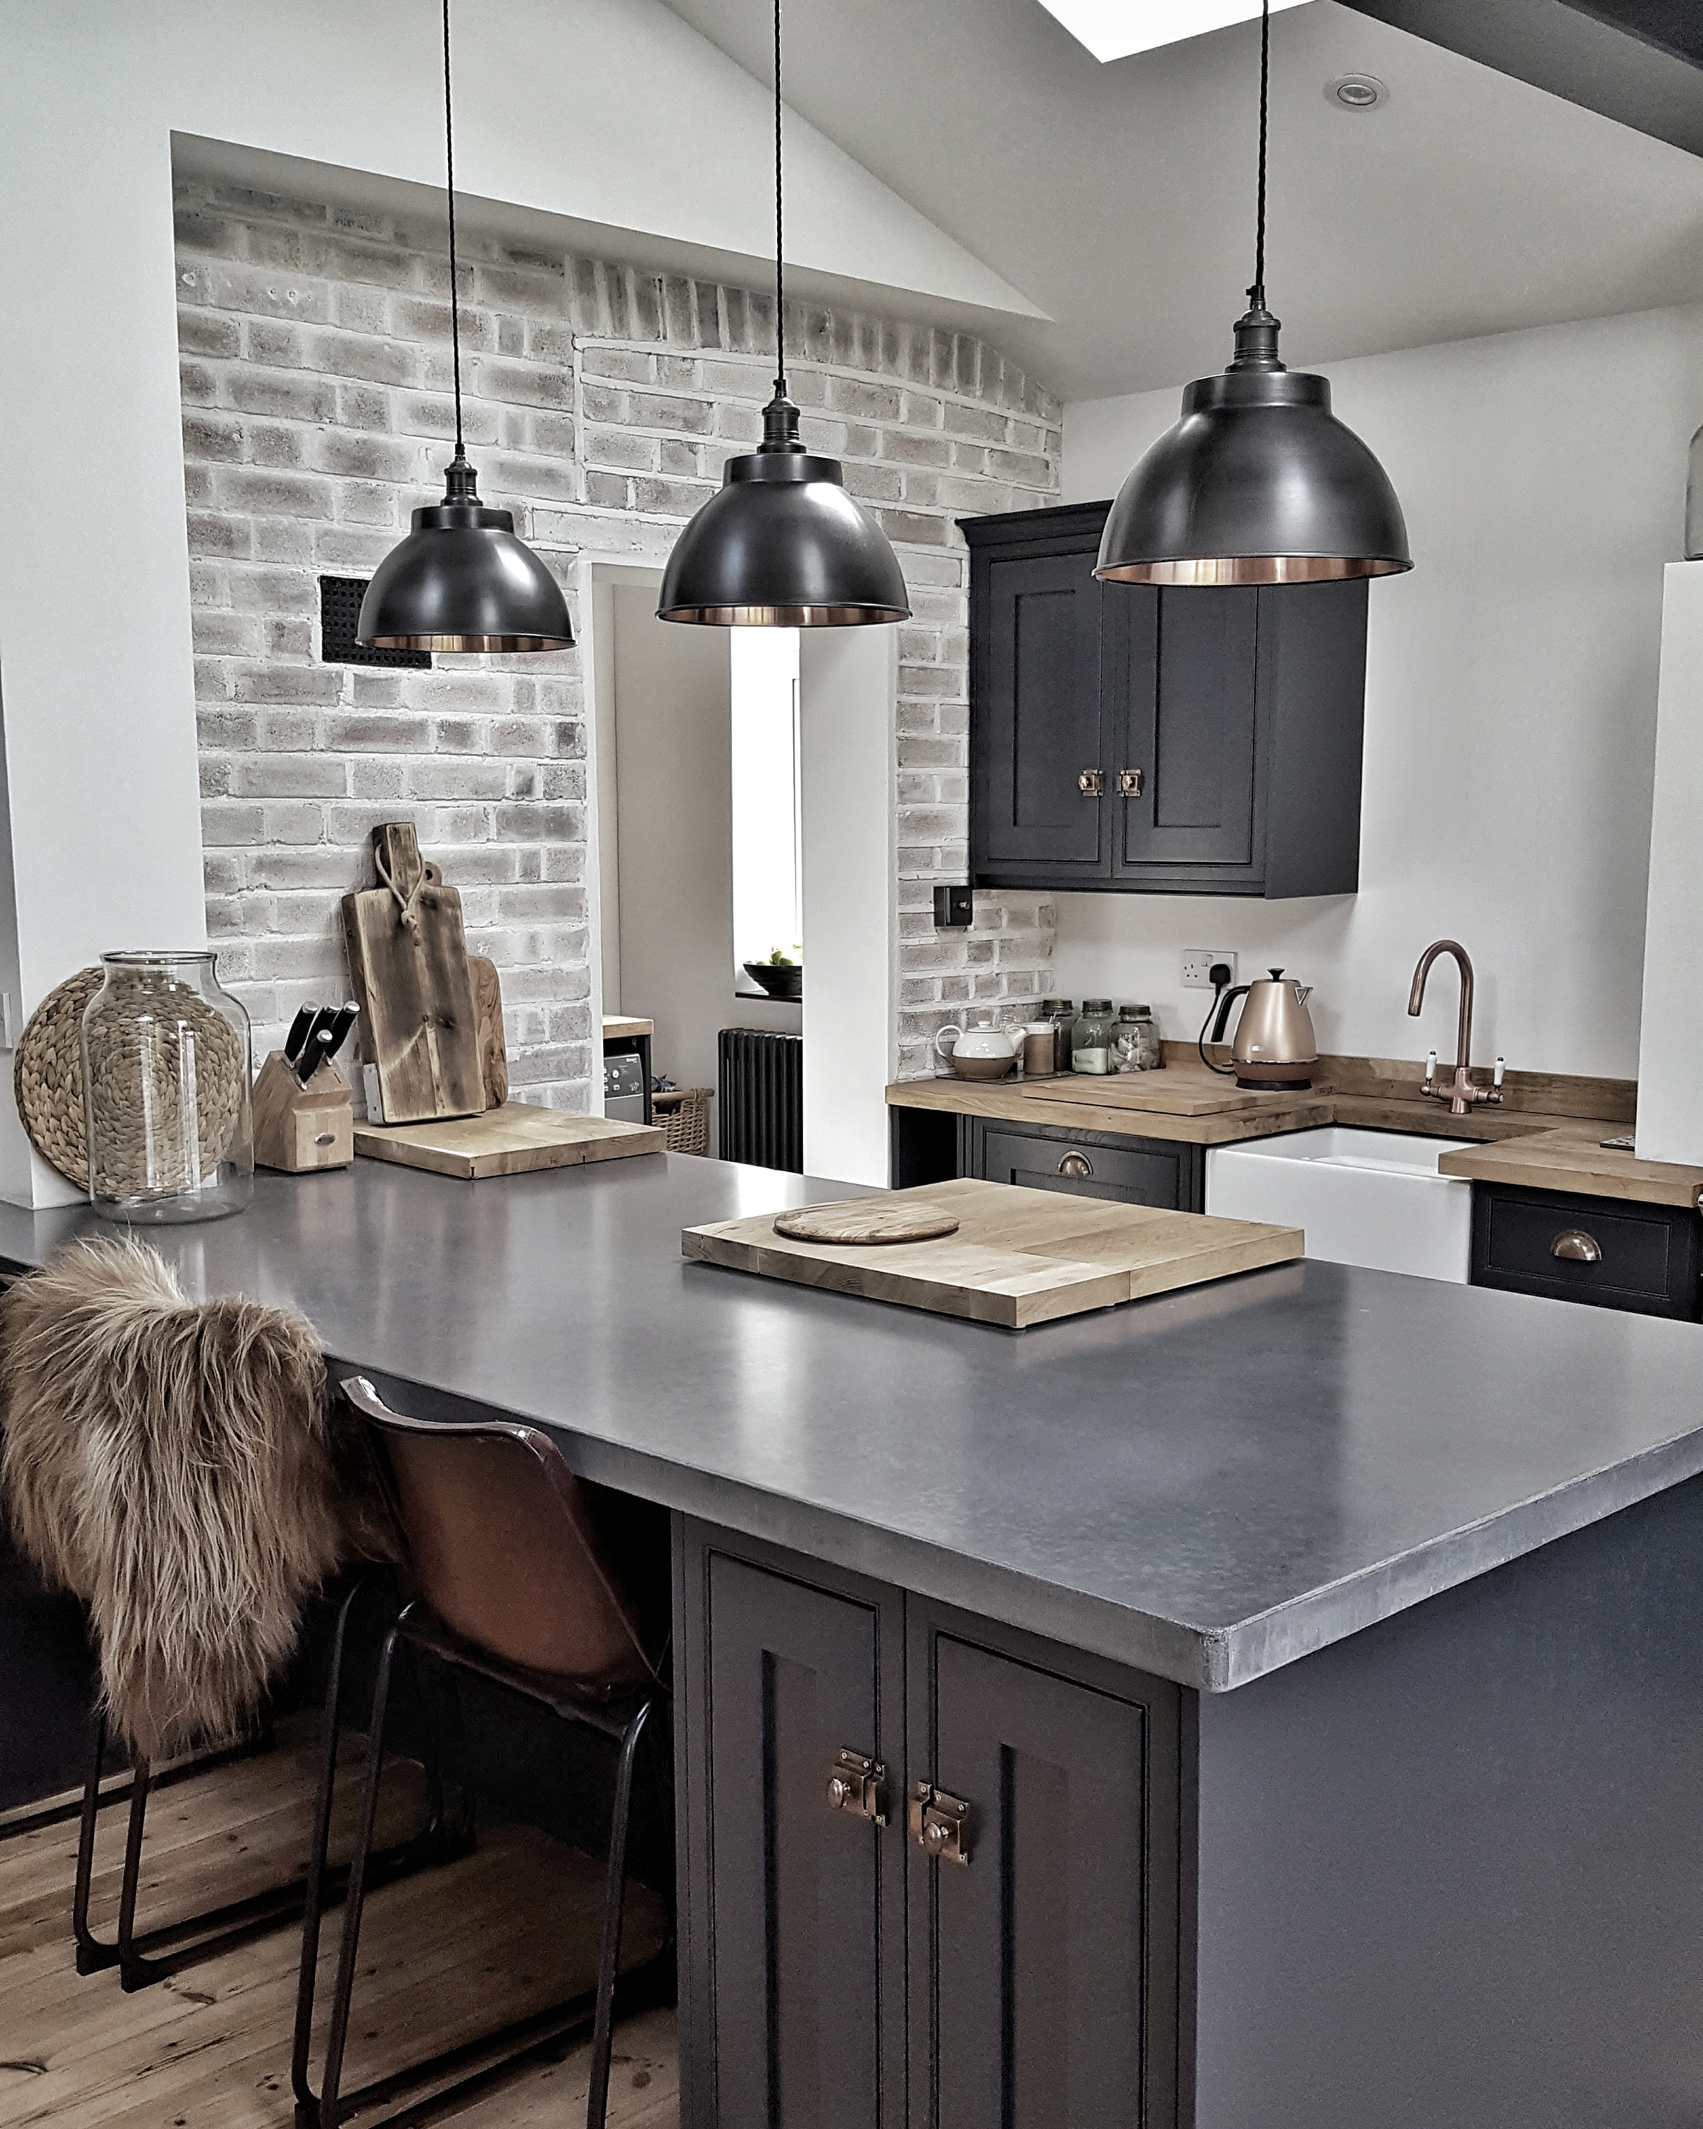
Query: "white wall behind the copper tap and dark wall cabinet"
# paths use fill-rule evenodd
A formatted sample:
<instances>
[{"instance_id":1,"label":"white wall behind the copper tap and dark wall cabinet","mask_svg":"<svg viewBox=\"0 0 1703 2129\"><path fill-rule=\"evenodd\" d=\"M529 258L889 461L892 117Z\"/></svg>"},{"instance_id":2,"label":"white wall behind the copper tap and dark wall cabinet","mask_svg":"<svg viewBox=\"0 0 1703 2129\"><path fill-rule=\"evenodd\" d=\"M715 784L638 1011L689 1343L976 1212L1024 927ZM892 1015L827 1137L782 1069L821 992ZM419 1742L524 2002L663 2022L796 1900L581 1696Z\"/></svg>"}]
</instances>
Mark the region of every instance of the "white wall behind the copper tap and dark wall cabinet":
<instances>
[{"instance_id":1,"label":"white wall behind the copper tap and dark wall cabinet","mask_svg":"<svg viewBox=\"0 0 1703 2129\"><path fill-rule=\"evenodd\" d=\"M1407 1020L1431 939L1479 975L1475 1056L1635 1077L1663 564L1703 419L1703 311L1643 311L1326 364L1416 568L1371 588L1358 896L1058 896L1058 988L1198 1033L1177 952L1316 986L1322 1050L1454 1054L1454 990ZM1064 415L1064 500L1109 496L1177 392Z\"/></svg>"}]
</instances>

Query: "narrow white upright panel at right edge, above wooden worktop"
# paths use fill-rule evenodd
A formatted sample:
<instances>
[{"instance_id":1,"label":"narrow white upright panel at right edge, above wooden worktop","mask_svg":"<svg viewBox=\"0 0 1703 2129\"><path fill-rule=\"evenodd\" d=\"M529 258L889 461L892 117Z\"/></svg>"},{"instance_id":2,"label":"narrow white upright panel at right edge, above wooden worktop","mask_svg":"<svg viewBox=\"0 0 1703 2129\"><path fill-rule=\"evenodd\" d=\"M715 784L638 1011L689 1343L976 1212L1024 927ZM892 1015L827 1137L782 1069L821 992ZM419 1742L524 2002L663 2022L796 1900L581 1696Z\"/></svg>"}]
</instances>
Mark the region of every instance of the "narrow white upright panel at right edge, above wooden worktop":
<instances>
[{"instance_id":1,"label":"narrow white upright panel at right edge, above wooden worktop","mask_svg":"<svg viewBox=\"0 0 1703 2129\"><path fill-rule=\"evenodd\" d=\"M1703 1162L1703 562L1671 562L1663 598L1637 1152Z\"/></svg>"}]
</instances>

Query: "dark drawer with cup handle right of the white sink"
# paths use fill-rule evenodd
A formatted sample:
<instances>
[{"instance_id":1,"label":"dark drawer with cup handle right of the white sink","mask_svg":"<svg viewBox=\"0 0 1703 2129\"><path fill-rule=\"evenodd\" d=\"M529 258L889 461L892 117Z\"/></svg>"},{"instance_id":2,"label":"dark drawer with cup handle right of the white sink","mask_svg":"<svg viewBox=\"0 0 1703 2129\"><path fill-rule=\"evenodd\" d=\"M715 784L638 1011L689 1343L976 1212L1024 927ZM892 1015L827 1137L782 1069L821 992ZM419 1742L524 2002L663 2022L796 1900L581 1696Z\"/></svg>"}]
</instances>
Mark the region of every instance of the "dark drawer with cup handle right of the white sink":
<instances>
[{"instance_id":1,"label":"dark drawer with cup handle right of the white sink","mask_svg":"<svg viewBox=\"0 0 1703 2129\"><path fill-rule=\"evenodd\" d=\"M1594 1248L1594 1260L1556 1256L1565 1235ZM1473 1184L1473 1286L1697 1322L1699 1216L1680 1205Z\"/></svg>"}]
</instances>

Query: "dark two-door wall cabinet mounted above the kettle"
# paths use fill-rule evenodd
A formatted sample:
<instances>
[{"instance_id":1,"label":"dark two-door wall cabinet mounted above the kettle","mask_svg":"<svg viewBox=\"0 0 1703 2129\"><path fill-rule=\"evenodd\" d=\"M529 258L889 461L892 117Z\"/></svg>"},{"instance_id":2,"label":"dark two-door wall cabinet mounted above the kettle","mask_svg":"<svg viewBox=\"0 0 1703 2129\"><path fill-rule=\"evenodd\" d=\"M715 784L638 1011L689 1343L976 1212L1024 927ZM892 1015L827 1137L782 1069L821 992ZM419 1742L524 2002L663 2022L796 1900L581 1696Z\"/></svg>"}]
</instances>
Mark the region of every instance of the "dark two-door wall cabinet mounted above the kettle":
<instances>
[{"instance_id":1,"label":"dark two-door wall cabinet mounted above the kettle","mask_svg":"<svg viewBox=\"0 0 1703 2129\"><path fill-rule=\"evenodd\" d=\"M960 519L977 886L1352 894L1365 581L1101 583L1107 509Z\"/></svg>"}]
</instances>

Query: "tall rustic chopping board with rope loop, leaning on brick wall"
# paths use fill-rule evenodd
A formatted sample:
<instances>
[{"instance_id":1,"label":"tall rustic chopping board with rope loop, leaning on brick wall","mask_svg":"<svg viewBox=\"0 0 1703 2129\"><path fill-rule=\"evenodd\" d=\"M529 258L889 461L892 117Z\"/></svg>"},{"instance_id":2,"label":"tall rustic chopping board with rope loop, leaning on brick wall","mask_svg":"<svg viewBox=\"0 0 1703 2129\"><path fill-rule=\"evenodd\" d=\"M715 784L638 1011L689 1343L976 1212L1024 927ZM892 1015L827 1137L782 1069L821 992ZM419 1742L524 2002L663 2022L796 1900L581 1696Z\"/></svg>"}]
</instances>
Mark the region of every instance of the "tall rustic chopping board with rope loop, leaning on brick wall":
<instances>
[{"instance_id":1,"label":"tall rustic chopping board with rope loop, leaning on brick wall","mask_svg":"<svg viewBox=\"0 0 1703 2129\"><path fill-rule=\"evenodd\" d=\"M375 828L373 860L379 886L343 896L343 937L385 1124L477 1116L485 1079L462 898L421 860L413 822Z\"/></svg>"}]
</instances>

